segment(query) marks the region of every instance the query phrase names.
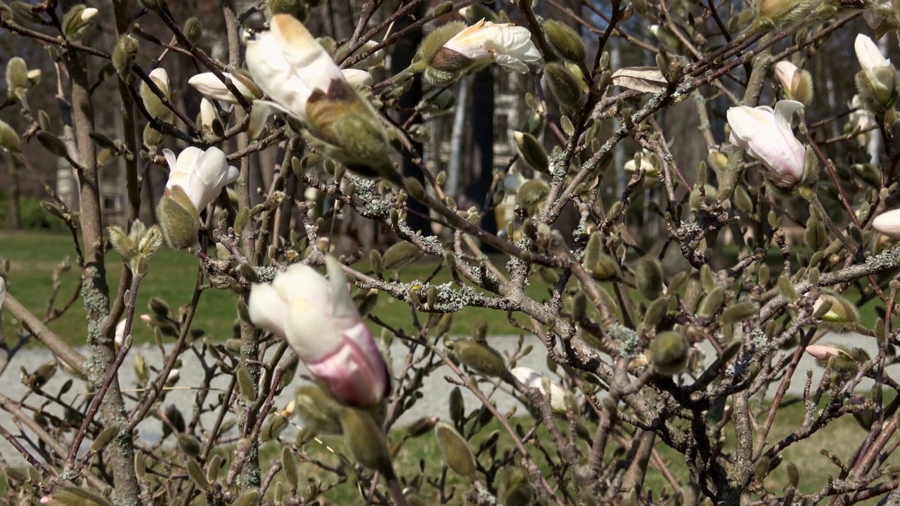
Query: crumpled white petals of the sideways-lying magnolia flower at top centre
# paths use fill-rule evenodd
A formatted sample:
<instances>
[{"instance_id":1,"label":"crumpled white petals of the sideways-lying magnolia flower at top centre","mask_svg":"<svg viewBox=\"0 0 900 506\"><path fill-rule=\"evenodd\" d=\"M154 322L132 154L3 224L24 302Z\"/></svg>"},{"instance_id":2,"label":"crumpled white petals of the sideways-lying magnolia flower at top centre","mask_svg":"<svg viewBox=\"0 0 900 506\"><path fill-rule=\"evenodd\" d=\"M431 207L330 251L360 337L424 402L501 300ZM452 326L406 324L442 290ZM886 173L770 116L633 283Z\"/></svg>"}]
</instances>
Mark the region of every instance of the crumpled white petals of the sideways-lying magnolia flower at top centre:
<instances>
[{"instance_id":1,"label":"crumpled white petals of the sideways-lying magnolia flower at top centre","mask_svg":"<svg viewBox=\"0 0 900 506\"><path fill-rule=\"evenodd\" d=\"M469 65L497 63L507 71L519 74L527 73L528 63L541 59L526 27L483 19L447 41L432 60L432 66L441 68L442 59L459 60L458 55L472 60Z\"/></svg>"}]
</instances>

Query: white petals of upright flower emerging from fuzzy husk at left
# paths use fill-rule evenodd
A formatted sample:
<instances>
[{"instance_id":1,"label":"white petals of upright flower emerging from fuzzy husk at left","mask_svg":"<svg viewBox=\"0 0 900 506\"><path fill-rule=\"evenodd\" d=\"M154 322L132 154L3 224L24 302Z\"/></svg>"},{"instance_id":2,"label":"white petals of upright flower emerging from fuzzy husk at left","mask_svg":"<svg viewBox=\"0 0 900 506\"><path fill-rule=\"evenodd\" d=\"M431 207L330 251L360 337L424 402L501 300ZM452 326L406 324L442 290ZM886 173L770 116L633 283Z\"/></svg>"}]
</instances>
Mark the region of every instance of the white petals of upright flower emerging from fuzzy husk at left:
<instances>
[{"instance_id":1,"label":"white petals of upright flower emerging from fuzzy husk at left","mask_svg":"<svg viewBox=\"0 0 900 506\"><path fill-rule=\"evenodd\" d=\"M186 148L177 158L170 149L163 149L163 154L169 166L166 189L181 186L196 212L215 200L222 188L236 181L240 174L237 167L228 165L225 153L219 148L205 151Z\"/></svg>"}]
</instances>

